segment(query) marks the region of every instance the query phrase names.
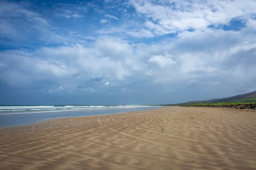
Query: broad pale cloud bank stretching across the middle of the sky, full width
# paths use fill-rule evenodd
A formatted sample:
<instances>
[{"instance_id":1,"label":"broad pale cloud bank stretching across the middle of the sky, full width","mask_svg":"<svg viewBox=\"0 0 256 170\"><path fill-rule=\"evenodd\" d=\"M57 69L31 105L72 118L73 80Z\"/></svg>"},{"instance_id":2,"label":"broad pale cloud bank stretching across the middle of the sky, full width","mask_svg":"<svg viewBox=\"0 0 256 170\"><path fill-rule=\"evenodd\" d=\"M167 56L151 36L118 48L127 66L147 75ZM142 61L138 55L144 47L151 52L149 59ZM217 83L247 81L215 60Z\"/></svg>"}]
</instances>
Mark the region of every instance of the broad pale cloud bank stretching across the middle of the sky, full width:
<instances>
[{"instance_id":1,"label":"broad pale cloud bank stretching across the middle of the sky, full width","mask_svg":"<svg viewBox=\"0 0 256 170\"><path fill-rule=\"evenodd\" d=\"M230 77L242 85L256 79L256 39L255 35L246 36L245 33L222 30L184 32L172 42L151 45L105 36L97 38L90 46L38 48L33 53L1 51L0 63L5 67L0 67L0 79L13 86L57 79L57 85L65 89L67 84L70 85L68 88L75 89L83 84L84 78L102 74L105 80L102 83L125 84L130 82L129 79L140 77L155 85L169 85L212 77L212 82L225 85L227 80L223 77ZM76 74L80 76L70 81L70 77ZM96 88L83 86L81 89Z\"/></svg>"}]
</instances>

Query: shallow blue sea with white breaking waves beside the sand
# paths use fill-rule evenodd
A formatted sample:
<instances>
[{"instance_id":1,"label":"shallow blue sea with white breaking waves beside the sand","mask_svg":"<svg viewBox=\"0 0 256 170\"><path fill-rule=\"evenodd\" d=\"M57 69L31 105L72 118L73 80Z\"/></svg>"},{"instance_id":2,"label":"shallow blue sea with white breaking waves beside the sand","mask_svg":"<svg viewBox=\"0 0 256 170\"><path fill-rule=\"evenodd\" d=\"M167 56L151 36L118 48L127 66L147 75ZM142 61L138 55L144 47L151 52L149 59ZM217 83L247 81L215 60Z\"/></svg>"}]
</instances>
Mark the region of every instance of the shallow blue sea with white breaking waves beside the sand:
<instances>
[{"instance_id":1,"label":"shallow blue sea with white breaking waves beside the sand","mask_svg":"<svg viewBox=\"0 0 256 170\"><path fill-rule=\"evenodd\" d=\"M144 111L158 108L143 105L1 105L0 127L26 125L47 119Z\"/></svg>"}]
</instances>

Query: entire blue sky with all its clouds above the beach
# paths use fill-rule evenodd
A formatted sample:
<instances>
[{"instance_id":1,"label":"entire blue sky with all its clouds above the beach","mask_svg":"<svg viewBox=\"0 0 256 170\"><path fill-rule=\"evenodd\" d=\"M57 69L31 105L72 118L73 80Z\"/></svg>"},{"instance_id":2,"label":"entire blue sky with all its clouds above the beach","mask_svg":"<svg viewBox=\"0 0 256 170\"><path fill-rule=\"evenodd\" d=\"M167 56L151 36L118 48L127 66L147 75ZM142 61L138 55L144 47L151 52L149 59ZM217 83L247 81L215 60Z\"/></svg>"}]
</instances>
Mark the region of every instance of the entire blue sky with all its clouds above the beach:
<instances>
[{"instance_id":1,"label":"entire blue sky with all its clouds above the beach","mask_svg":"<svg viewBox=\"0 0 256 170\"><path fill-rule=\"evenodd\" d=\"M0 104L167 104L256 91L255 0L0 2Z\"/></svg>"}]
</instances>

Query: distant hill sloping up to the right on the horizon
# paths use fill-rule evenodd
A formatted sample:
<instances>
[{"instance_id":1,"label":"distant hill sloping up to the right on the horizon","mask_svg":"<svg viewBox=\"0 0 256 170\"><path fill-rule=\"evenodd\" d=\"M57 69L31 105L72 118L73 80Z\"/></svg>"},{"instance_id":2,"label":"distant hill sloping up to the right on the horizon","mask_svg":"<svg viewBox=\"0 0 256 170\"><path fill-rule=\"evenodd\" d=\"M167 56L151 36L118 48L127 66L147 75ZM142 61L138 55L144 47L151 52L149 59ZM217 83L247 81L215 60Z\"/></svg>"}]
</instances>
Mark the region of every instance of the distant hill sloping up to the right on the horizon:
<instances>
[{"instance_id":1,"label":"distant hill sloping up to the right on the horizon","mask_svg":"<svg viewBox=\"0 0 256 170\"><path fill-rule=\"evenodd\" d=\"M190 102L185 102L185 103L180 103L175 105L194 105L198 103L220 103L220 102L237 102L237 101L247 102L247 99L248 99L248 102L250 102L250 100L252 99L256 100L256 91L246 93L246 94L239 94L232 97L221 98L221 99L190 101Z\"/></svg>"}]
</instances>

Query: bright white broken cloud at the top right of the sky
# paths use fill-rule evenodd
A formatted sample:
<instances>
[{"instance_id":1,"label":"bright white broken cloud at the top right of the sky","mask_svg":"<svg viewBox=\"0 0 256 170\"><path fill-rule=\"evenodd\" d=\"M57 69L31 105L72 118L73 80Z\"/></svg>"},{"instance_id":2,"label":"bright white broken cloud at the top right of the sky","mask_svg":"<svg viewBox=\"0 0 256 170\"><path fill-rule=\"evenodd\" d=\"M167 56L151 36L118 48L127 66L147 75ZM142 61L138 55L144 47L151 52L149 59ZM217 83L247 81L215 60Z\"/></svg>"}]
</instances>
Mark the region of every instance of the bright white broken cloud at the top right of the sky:
<instances>
[{"instance_id":1,"label":"bright white broken cloud at the top right of the sky","mask_svg":"<svg viewBox=\"0 0 256 170\"><path fill-rule=\"evenodd\" d=\"M256 14L254 0L170 1L154 3L148 0L130 0L156 34L169 34L188 29L203 30L208 26L228 25L233 19L249 19Z\"/></svg>"}]
</instances>

